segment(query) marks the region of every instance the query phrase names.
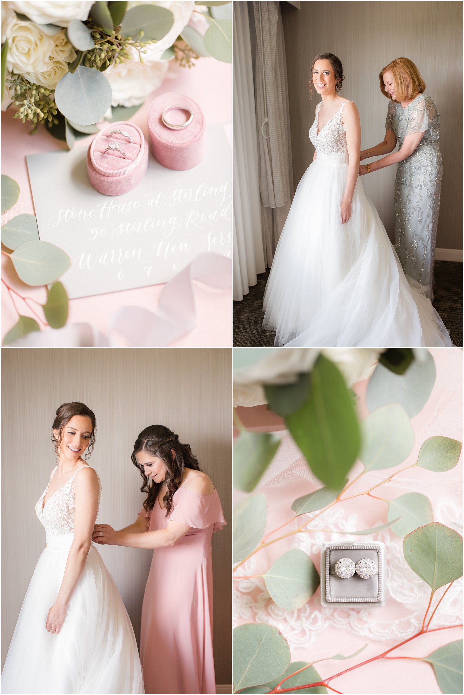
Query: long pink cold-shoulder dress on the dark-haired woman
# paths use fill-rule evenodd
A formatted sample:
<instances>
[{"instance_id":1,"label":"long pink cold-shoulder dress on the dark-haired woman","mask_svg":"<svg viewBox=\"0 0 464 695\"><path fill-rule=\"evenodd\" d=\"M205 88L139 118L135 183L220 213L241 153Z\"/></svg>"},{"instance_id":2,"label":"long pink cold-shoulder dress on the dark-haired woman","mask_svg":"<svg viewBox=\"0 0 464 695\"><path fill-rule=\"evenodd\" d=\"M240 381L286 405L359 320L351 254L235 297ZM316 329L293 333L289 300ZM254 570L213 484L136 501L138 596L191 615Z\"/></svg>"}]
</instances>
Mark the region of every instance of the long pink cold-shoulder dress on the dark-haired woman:
<instances>
[{"instance_id":1,"label":"long pink cold-shoulder dress on the dark-haired woman","mask_svg":"<svg viewBox=\"0 0 464 695\"><path fill-rule=\"evenodd\" d=\"M215 693L211 537L225 525L217 490L200 494L183 486L168 518L158 500L142 508L149 531L169 521L190 526L169 548L156 548L142 607L140 660L151 693Z\"/></svg>"}]
</instances>

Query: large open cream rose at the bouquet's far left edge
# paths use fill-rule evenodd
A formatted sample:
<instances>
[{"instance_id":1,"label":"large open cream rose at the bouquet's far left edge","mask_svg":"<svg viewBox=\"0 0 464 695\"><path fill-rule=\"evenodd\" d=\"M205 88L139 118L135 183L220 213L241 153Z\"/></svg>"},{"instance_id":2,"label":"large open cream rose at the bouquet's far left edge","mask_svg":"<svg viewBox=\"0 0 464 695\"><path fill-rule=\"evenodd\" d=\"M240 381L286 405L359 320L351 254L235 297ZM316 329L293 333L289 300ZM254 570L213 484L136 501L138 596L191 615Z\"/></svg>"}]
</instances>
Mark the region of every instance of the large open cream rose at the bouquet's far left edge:
<instances>
[{"instance_id":1,"label":"large open cream rose at the bouquet's far left edge","mask_svg":"<svg viewBox=\"0 0 464 695\"><path fill-rule=\"evenodd\" d=\"M39 72L46 67L53 50L53 38L40 26L16 19L10 26L6 67L10 72Z\"/></svg>"}]
</instances>

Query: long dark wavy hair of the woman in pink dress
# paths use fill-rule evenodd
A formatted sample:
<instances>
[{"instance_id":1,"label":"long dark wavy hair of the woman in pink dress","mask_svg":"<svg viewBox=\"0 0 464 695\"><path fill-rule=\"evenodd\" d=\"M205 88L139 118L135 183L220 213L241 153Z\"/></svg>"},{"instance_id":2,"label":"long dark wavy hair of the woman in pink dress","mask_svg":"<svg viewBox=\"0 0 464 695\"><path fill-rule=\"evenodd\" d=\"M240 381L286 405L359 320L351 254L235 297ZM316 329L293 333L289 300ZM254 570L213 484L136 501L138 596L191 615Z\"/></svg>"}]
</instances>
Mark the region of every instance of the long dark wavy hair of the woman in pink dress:
<instances>
[{"instance_id":1,"label":"long dark wavy hair of the woman in pink dress","mask_svg":"<svg viewBox=\"0 0 464 695\"><path fill-rule=\"evenodd\" d=\"M174 457L171 450L174 452ZM148 493L147 499L143 503L147 512L153 509L163 483L153 481L150 484L148 477L144 473L143 466L140 466L137 460L136 455L140 451L160 458L167 468L164 480L167 485L167 493L163 497L163 505L166 509L166 516L169 516L173 506L172 496L182 482L185 468L193 468L194 471L200 470L197 458L192 454L190 444L181 444L179 435L174 434L164 425L150 425L140 432L135 440L131 460L134 466L139 469L143 478L143 485L140 490Z\"/></svg>"}]
</instances>

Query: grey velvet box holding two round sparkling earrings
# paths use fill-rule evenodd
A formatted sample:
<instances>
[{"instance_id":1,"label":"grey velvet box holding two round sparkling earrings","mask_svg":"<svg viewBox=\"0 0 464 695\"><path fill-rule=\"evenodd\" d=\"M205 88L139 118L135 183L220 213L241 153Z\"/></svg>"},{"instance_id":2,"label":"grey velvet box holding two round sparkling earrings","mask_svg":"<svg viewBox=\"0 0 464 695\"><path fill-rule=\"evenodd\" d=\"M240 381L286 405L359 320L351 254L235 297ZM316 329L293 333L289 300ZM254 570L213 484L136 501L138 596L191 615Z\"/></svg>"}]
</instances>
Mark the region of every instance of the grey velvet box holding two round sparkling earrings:
<instances>
[{"instance_id":1,"label":"grey velvet box holding two round sparkling earrings","mask_svg":"<svg viewBox=\"0 0 464 695\"><path fill-rule=\"evenodd\" d=\"M335 574L335 562L349 557L354 564L370 557L377 574L361 579L355 573L349 579ZM386 547L385 543L323 543L321 553L321 603L323 606L370 608L386 603Z\"/></svg>"}]
</instances>

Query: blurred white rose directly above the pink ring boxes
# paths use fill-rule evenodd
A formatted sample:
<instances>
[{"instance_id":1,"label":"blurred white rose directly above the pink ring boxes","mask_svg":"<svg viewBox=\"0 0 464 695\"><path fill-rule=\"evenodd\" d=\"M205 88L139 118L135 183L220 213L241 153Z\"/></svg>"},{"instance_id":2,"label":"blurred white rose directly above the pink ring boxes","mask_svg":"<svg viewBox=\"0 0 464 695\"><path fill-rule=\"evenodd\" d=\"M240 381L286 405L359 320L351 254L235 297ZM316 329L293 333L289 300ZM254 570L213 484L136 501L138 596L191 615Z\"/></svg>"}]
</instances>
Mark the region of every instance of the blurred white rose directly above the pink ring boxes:
<instances>
[{"instance_id":1,"label":"blurred white rose directly above the pink ring boxes","mask_svg":"<svg viewBox=\"0 0 464 695\"><path fill-rule=\"evenodd\" d=\"M113 90L112 106L137 106L148 95L158 89L165 79L168 60L156 60L153 63L140 63L134 56L126 63L117 63L108 67L106 76Z\"/></svg>"}]
</instances>

